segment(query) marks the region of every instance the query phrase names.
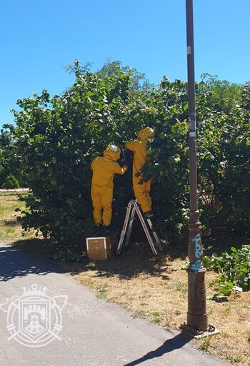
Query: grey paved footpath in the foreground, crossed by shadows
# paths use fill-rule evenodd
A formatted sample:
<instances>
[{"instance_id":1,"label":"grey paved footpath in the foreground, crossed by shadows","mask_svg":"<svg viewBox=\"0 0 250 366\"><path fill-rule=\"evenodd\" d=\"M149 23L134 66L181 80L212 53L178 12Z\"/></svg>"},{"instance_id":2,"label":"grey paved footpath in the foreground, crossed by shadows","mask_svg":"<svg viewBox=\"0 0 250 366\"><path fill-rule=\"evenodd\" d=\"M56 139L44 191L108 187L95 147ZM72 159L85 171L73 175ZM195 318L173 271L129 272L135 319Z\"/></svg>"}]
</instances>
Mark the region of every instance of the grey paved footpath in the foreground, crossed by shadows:
<instances>
[{"instance_id":1,"label":"grey paved footpath in the foreground, crossed by shadows","mask_svg":"<svg viewBox=\"0 0 250 366\"><path fill-rule=\"evenodd\" d=\"M63 328L43 347L20 344L16 340L18 335L8 340L11 332L6 328L7 314L10 324L11 314L21 314L21 310L17 306L9 312L0 308L1 366L228 365L196 350L194 341L186 335L134 319L118 305L97 299L69 273L3 243L0 243L0 280L0 304L7 303L7 298L14 302L13 296L21 296L23 288L31 289L34 284L37 289L46 287L51 298L68 296L61 311ZM16 330L23 329L24 322L18 324L15 317L13 322ZM28 338L29 344L35 345L34 339Z\"/></svg>"}]
</instances>

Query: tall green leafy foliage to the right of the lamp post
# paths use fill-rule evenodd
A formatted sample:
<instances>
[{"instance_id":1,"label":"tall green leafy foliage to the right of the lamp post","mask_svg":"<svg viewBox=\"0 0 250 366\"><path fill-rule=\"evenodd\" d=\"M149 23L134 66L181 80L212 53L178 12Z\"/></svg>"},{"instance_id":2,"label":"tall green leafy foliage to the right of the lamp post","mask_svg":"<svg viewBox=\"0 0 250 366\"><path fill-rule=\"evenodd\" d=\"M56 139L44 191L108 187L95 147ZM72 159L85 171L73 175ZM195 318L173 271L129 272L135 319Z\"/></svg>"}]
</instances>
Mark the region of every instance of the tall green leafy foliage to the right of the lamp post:
<instances>
[{"instance_id":1,"label":"tall green leafy foliage to the right of the lamp post","mask_svg":"<svg viewBox=\"0 0 250 366\"><path fill-rule=\"evenodd\" d=\"M197 91L198 178L201 206L210 198L217 220L235 233L249 233L249 83L200 83Z\"/></svg>"}]
</instances>

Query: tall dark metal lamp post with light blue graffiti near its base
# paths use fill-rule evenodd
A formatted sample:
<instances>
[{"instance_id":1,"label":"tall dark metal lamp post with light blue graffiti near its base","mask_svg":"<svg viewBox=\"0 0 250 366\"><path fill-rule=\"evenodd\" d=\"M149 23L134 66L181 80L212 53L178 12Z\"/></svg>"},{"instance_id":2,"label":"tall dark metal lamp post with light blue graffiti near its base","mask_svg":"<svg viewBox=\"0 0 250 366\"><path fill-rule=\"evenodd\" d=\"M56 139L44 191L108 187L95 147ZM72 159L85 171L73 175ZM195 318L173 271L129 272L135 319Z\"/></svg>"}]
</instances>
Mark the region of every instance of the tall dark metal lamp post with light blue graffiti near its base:
<instances>
[{"instance_id":1,"label":"tall dark metal lamp post with light blue graffiti near its base","mask_svg":"<svg viewBox=\"0 0 250 366\"><path fill-rule=\"evenodd\" d=\"M193 0L186 0L186 41L189 93L189 268L188 273L188 312L187 322L181 325L182 330L199 335L211 330L206 313L206 268L203 267L201 245L201 223L199 220L197 199L197 167L196 167L196 109L194 79L194 22ZM214 330L214 328L213 328ZM212 330L211 330L212 331Z\"/></svg>"}]
</instances>

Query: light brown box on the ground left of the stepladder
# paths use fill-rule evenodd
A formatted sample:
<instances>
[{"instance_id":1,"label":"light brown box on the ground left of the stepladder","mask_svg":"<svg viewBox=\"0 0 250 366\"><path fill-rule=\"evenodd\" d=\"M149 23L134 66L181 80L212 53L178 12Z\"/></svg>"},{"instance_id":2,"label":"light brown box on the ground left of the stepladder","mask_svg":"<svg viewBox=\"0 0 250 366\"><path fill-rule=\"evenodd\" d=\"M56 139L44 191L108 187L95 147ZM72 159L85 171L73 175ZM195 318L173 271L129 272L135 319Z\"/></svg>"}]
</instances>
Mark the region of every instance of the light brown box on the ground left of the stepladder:
<instances>
[{"instance_id":1,"label":"light brown box on the ground left of the stepladder","mask_svg":"<svg viewBox=\"0 0 250 366\"><path fill-rule=\"evenodd\" d=\"M86 238L89 260L108 260L116 253L117 240L113 236Z\"/></svg>"}]
</instances>

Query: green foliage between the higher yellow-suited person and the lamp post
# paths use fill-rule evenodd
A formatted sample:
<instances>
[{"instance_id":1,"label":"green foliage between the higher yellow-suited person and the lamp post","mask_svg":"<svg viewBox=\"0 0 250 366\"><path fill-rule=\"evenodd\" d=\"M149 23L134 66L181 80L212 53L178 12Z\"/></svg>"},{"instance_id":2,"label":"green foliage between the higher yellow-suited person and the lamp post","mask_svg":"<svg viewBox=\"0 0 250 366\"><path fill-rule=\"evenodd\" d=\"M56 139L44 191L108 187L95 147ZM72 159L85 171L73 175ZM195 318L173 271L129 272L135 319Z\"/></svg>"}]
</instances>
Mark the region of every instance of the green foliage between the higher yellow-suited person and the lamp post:
<instances>
[{"instance_id":1,"label":"green foliage between the higher yellow-suited person and the lamp post","mask_svg":"<svg viewBox=\"0 0 250 366\"><path fill-rule=\"evenodd\" d=\"M186 226L189 207L187 83L163 78L150 98L156 137L150 144L152 160L143 171L145 180L153 179L154 213L164 235Z\"/></svg>"}]
</instances>

